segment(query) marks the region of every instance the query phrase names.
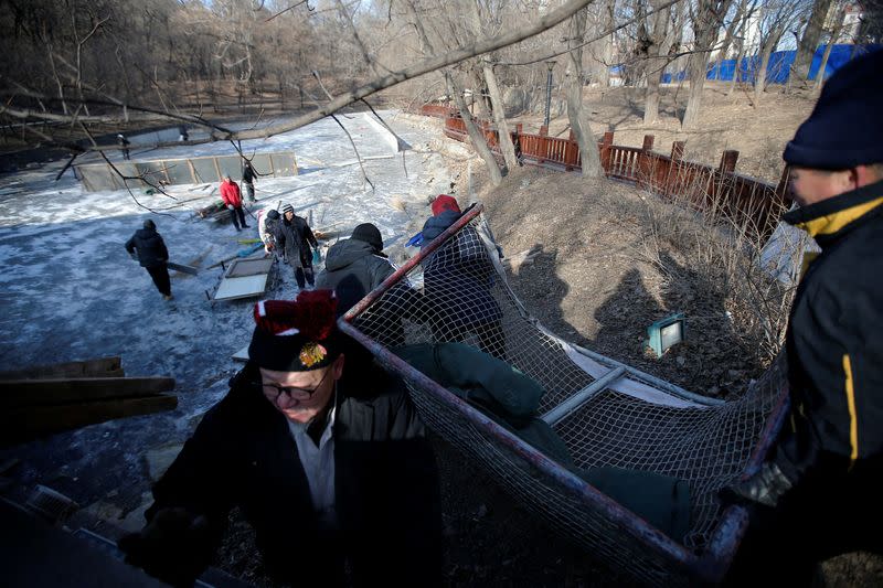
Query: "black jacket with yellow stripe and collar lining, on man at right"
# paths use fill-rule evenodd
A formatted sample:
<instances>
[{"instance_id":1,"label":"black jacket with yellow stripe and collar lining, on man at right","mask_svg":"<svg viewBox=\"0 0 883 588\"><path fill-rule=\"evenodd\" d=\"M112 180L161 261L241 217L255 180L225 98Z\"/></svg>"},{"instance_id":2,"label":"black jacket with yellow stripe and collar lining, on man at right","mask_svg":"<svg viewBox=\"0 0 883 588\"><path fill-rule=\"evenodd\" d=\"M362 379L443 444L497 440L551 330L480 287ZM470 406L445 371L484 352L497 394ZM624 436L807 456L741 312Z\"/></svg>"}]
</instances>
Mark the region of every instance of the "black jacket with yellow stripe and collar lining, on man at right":
<instances>
[{"instance_id":1,"label":"black jacket with yellow stripe and collar lining, on man at right","mask_svg":"<svg viewBox=\"0 0 883 588\"><path fill-rule=\"evenodd\" d=\"M786 334L791 419L774 459L798 493L820 498L820 509L876 496L872 510L881 522L883 182L798 209L785 220L812 235L821 254L808 266L791 306Z\"/></svg>"}]
</instances>

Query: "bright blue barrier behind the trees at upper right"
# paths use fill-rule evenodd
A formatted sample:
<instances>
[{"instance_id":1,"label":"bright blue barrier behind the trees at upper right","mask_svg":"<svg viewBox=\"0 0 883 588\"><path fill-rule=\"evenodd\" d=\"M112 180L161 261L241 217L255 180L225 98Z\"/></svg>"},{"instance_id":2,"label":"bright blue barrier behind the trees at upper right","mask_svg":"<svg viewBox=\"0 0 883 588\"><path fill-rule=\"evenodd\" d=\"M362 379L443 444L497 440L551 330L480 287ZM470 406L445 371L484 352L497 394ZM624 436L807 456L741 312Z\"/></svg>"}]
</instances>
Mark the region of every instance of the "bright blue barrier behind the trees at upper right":
<instances>
[{"instance_id":1,"label":"bright blue barrier behind the trees at upper right","mask_svg":"<svg viewBox=\"0 0 883 588\"><path fill-rule=\"evenodd\" d=\"M819 45L816 54L812 56L812 63L809 66L809 78L816 77L816 73L821 67L821 60L825 56L826 45ZM825 78L831 76L836 71L845 65L854 55L871 51L880 51L883 45L833 45L831 54L828 56L828 63L825 67ZM854 55L853 55L854 54ZM785 84L790 75L791 64L794 63L796 51L776 51L769 56L769 63L766 66L766 83L767 84ZM738 67L737 82L754 83L757 75L757 67L760 65L759 55L752 55L751 57L743 57ZM720 64L717 62L709 64L708 79L720 79L728 82L733 79L736 73L736 60L723 60ZM687 71L678 72L677 74L662 74L662 83L670 84L673 82L681 82L687 78Z\"/></svg>"}]
</instances>

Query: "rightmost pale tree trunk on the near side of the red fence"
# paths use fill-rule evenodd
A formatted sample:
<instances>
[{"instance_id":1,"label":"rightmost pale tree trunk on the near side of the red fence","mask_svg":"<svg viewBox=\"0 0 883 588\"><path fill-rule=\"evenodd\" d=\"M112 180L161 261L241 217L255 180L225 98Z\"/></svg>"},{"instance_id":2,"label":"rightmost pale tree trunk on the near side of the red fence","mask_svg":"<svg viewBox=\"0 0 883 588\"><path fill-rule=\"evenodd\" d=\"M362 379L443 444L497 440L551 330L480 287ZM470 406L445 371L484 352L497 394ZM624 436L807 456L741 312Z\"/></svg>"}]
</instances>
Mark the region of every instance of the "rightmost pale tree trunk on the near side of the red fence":
<instances>
[{"instance_id":1,"label":"rightmost pale tree trunk on the near side of the red fence","mask_svg":"<svg viewBox=\"0 0 883 588\"><path fill-rule=\"evenodd\" d=\"M603 171L598 142L592 133L588 119L583 110L583 50L581 45L586 32L587 17L588 10L585 8L571 17L570 33L567 34L567 45L571 49L567 54L571 68L571 79L567 84L567 118L571 121L571 129L576 137L576 142L579 145L583 177L597 178Z\"/></svg>"}]
</instances>

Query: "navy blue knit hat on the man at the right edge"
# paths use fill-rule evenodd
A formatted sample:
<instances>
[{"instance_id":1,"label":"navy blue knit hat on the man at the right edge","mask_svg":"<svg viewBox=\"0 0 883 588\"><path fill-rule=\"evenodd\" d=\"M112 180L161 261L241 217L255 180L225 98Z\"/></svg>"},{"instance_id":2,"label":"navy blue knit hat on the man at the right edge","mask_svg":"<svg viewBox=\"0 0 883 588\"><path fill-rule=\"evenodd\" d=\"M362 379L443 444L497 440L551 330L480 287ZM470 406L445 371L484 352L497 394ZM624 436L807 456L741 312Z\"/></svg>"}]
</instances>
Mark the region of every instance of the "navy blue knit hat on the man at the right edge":
<instances>
[{"instance_id":1,"label":"navy blue knit hat on the man at the right edge","mask_svg":"<svg viewBox=\"0 0 883 588\"><path fill-rule=\"evenodd\" d=\"M789 165L819 170L881 163L881 138L883 51L874 51L855 57L826 82L816 108L781 157Z\"/></svg>"}]
</instances>

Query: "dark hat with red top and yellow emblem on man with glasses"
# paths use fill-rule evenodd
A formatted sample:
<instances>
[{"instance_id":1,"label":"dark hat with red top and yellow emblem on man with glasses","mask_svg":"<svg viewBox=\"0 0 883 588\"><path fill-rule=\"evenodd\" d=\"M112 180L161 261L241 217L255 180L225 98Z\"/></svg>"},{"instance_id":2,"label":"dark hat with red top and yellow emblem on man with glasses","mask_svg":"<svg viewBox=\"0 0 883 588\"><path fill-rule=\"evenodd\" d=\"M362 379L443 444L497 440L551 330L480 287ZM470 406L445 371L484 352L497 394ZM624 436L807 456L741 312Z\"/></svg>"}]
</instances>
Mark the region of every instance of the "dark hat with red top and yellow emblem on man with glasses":
<instances>
[{"instance_id":1,"label":"dark hat with red top and yellow emblem on man with glasses","mask_svg":"<svg viewBox=\"0 0 883 588\"><path fill-rule=\"evenodd\" d=\"M262 300L255 304L249 360L277 372L330 365L342 350L337 307L333 290L304 290L296 300Z\"/></svg>"}]
</instances>

